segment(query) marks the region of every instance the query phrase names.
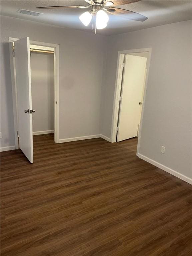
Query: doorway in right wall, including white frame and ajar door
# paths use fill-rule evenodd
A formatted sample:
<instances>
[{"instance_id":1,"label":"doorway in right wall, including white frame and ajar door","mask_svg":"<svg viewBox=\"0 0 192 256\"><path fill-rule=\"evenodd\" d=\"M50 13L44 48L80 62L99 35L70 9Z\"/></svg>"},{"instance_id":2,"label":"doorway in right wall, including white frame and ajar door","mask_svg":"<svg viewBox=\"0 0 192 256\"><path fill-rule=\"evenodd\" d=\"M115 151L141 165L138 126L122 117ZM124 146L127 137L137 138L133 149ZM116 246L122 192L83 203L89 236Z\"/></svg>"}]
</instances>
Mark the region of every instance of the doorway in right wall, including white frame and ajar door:
<instances>
[{"instance_id":1,"label":"doorway in right wall, including white frame and ajar door","mask_svg":"<svg viewBox=\"0 0 192 256\"><path fill-rule=\"evenodd\" d=\"M138 137L140 145L151 48L120 51L114 97L112 141Z\"/></svg>"}]
</instances>

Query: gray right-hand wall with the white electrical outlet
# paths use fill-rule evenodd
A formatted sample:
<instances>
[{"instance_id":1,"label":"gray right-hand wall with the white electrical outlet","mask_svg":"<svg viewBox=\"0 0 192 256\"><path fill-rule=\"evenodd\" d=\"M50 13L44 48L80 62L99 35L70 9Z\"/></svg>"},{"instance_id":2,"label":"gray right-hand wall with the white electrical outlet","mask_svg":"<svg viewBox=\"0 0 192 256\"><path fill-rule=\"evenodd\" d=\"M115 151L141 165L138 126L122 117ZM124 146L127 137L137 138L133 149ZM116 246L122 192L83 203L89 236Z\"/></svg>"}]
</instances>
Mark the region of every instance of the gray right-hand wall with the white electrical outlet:
<instances>
[{"instance_id":1,"label":"gray right-hand wall with the white electrical outlet","mask_svg":"<svg viewBox=\"0 0 192 256\"><path fill-rule=\"evenodd\" d=\"M152 47L139 153L187 177L192 176L191 29L191 21L183 21L110 36L101 107L101 133L111 137L118 51Z\"/></svg>"}]
</instances>

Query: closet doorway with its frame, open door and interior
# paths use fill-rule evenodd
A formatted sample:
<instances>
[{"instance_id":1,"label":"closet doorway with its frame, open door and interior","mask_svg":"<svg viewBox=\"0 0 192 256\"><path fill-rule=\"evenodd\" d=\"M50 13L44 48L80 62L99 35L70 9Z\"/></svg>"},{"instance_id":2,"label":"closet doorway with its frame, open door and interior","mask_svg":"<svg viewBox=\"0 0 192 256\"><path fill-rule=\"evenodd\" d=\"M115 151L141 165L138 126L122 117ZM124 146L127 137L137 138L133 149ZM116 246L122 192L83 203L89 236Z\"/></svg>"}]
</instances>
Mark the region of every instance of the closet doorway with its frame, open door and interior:
<instances>
[{"instance_id":1,"label":"closet doorway with its frame, open door and interior","mask_svg":"<svg viewBox=\"0 0 192 256\"><path fill-rule=\"evenodd\" d=\"M9 51L15 145L33 163L33 135L59 142L59 45L9 38Z\"/></svg>"}]
</instances>

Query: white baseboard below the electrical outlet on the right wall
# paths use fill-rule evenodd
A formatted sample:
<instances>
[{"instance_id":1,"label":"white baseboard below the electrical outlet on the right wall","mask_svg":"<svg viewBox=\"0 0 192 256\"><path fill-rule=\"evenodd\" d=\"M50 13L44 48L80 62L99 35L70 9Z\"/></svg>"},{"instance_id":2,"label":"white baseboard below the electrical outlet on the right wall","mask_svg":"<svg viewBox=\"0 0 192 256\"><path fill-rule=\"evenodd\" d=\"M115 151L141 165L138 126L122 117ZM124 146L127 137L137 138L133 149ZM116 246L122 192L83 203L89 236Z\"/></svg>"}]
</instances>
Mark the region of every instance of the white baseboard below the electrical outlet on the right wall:
<instances>
[{"instance_id":1,"label":"white baseboard below the electrical outlet on the right wall","mask_svg":"<svg viewBox=\"0 0 192 256\"><path fill-rule=\"evenodd\" d=\"M143 159L143 160L145 160L146 162L148 162L150 164L153 164L153 165L157 166L158 168L160 168L160 169L162 169L162 170L164 170L164 171L166 171L166 172L176 176L177 178L179 178L181 180L184 180L184 181L186 181L189 184L192 184L192 178L189 178L189 177L187 177L187 176L185 176L185 175L183 175L183 174L181 174L181 173L179 173L177 171L174 171L173 169L171 169L171 168L169 168L169 167L167 167L167 166L165 166L163 164L160 164L160 163L158 163L158 162L152 160L151 158L148 158L148 157L146 157L146 156L144 156L142 154L138 154L138 157Z\"/></svg>"}]
</instances>

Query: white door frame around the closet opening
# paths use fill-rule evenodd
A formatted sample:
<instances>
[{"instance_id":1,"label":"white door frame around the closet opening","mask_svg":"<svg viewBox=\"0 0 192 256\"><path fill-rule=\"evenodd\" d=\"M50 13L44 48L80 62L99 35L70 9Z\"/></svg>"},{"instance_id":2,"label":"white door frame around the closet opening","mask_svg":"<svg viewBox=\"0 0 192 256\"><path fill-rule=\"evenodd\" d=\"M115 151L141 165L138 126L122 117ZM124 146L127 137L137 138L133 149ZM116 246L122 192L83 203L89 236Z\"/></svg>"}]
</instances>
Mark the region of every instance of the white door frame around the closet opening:
<instances>
[{"instance_id":1,"label":"white door frame around the closet opening","mask_svg":"<svg viewBox=\"0 0 192 256\"><path fill-rule=\"evenodd\" d=\"M12 83L12 97L13 97L13 114L14 114L14 134L15 134L15 148L19 148L18 145L18 110L17 110L17 85L15 74L15 59L13 58L13 42L20 38L9 37L9 55L10 55L10 69L11 69L11 83ZM55 101L55 113L54 113L54 141L59 143L59 45L44 43L30 40L30 44L39 46L39 49L46 50L46 47L54 49L54 101Z\"/></svg>"}]
</instances>

